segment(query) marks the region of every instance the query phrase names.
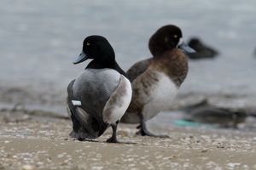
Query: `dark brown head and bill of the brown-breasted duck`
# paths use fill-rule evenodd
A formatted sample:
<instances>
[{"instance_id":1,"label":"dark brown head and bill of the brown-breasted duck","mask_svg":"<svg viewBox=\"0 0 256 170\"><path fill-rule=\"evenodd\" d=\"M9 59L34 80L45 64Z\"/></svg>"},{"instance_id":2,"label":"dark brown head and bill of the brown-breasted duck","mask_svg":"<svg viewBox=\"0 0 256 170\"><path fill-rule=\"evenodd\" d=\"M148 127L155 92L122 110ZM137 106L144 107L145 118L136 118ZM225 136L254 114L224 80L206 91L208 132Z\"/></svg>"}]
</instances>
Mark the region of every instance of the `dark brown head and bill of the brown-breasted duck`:
<instances>
[{"instance_id":1,"label":"dark brown head and bill of the brown-breasted duck","mask_svg":"<svg viewBox=\"0 0 256 170\"><path fill-rule=\"evenodd\" d=\"M173 25L162 26L149 39L148 48L154 56L172 48L182 48L185 52L195 53L183 42L183 34L179 27Z\"/></svg>"}]
</instances>

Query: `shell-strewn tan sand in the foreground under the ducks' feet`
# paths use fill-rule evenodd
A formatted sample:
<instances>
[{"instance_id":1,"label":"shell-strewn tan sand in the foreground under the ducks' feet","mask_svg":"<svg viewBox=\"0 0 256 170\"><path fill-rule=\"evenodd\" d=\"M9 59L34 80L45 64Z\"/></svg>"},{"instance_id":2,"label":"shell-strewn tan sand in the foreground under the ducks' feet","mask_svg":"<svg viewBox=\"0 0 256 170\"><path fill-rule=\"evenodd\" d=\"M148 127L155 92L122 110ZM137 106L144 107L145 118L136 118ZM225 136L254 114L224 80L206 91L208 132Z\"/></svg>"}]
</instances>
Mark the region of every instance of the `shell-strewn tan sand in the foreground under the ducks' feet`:
<instances>
[{"instance_id":1,"label":"shell-strewn tan sand in the foreground under the ducks' feet","mask_svg":"<svg viewBox=\"0 0 256 170\"><path fill-rule=\"evenodd\" d=\"M80 142L68 136L67 119L15 121L2 114L0 120L0 169L256 169L255 133L149 124L154 133L171 136L155 139L120 124L118 139L132 144L107 144L111 128L95 141Z\"/></svg>"}]
</instances>

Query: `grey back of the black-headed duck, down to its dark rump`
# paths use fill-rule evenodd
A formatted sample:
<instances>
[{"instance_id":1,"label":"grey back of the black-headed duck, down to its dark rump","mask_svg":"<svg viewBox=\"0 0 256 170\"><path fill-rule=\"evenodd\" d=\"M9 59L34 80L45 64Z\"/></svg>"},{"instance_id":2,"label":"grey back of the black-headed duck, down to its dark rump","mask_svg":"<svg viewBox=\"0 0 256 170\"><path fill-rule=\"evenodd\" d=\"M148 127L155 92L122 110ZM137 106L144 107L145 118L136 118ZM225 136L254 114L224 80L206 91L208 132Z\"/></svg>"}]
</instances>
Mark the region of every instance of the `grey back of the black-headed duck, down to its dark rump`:
<instances>
[{"instance_id":1,"label":"grey back of the black-headed duck, down to its dark rump","mask_svg":"<svg viewBox=\"0 0 256 170\"><path fill-rule=\"evenodd\" d=\"M119 77L119 72L112 69L86 69L79 74L73 83L73 96L81 101L81 108L85 114L89 114L94 119L89 122L82 121L83 127L92 128L95 132L106 130L106 123L102 120L102 111L110 95L119 85ZM105 129L101 129L102 126Z\"/></svg>"}]
</instances>

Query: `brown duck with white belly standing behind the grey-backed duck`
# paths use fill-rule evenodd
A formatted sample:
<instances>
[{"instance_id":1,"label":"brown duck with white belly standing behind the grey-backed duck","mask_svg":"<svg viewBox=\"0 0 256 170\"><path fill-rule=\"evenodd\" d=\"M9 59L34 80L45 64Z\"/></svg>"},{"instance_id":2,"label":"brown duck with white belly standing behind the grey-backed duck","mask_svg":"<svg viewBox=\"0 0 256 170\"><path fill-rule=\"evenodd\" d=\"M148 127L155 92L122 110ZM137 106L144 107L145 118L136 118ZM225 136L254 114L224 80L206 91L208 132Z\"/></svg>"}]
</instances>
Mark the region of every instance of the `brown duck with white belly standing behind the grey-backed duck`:
<instances>
[{"instance_id":1,"label":"brown duck with white belly standing behind the grey-backed duck","mask_svg":"<svg viewBox=\"0 0 256 170\"><path fill-rule=\"evenodd\" d=\"M188 73L185 52L194 53L195 50L183 42L182 31L173 25L156 31L148 47L153 57L137 62L126 72L131 81L132 98L121 122L139 123L137 134L143 136L168 137L150 133L145 122L171 108Z\"/></svg>"}]
</instances>

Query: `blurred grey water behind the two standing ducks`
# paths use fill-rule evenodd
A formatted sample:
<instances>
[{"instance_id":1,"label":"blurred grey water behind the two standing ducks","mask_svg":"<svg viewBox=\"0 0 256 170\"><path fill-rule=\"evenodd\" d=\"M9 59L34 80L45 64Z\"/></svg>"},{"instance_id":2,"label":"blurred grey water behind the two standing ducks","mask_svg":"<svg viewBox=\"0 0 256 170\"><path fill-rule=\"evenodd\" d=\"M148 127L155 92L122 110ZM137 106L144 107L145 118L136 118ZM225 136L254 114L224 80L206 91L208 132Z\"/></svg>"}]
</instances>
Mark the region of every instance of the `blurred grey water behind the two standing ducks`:
<instances>
[{"instance_id":1,"label":"blurred grey water behind the two standing ducks","mask_svg":"<svg viewBox=\"0 0 256 170\"><path fill-rule=\"evenodd\" d=\"M72 63L84 37L107 37L126 71L151 57L148 38L154 31L174 24L184 40L201 37L220 53L217 59L189 60L179 96L203 95L218 105L256 107L254 0L3 0L0 21L1 105L22 99L26 105L57 103L64 110L68 82L88 64Z\"/></svg>"}]
</instances>

